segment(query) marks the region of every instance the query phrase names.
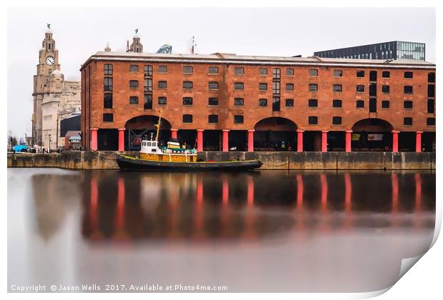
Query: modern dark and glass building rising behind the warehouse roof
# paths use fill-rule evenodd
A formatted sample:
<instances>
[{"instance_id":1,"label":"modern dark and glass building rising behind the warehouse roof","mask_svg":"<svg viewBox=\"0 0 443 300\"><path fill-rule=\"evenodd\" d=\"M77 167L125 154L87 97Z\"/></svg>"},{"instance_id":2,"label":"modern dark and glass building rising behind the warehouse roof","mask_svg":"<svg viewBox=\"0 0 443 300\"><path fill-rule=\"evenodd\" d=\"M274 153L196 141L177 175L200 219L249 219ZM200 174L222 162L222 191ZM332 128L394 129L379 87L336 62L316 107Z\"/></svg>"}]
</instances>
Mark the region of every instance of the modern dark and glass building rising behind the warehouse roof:
<instances>
[{"instance_id":1,"label":"modern dark and glass building rising behind the warehouse roof","mask_svg":"<svg viewBox=\"0 0 443 300\"><path fill-rule=\"evenodd\" d=\"M315 56L336 59L414 59L425 61L425 44L414 41L387 41L314 52Z\"/></svg>"}]
</instances>

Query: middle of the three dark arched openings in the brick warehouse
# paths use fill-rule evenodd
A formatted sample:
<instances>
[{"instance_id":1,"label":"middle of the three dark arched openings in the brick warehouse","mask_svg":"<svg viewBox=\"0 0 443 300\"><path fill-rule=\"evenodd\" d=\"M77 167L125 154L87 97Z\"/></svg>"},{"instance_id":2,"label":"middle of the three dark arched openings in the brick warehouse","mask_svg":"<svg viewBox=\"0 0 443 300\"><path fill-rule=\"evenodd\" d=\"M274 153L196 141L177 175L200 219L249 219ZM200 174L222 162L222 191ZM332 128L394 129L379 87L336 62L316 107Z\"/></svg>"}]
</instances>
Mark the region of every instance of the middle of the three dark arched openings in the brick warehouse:
<instances>
[{"instance_id":1,"label":"middle of the three dark arched openings in the brick warehouse","mask_svg":"<svg viewBox=\"0 0 443 300\"><path fill-rule=\"evenodd\" d=\"M254 130L255 151L297 151L297 124L289 119L262 119Z\"/></svg>"}]
</instances>

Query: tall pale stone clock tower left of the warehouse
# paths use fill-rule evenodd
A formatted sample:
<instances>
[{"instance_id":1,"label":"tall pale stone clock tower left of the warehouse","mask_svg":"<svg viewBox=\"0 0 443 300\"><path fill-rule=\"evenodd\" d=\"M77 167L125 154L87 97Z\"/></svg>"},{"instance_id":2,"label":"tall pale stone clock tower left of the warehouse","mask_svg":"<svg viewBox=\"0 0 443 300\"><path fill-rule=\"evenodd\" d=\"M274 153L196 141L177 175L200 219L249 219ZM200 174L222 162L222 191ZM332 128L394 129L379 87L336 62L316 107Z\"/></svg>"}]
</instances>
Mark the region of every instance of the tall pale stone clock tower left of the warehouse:
<instances>
[{"instance_id":1,"label":"tall pale stone clock tower left of the warehouse","mask_svg":"<svg viewBox=\"0 0 443 300\"><path fill-rule=\"evenodd\" d=\"M37 72L34 75L34 114L32 116L32 136L34 144L41 145L42 138L42 111L41 104L44 94L49 92L49 81L51 74L55 70L60 71L59 51L56 49L56 43L52 39L52 31L49 28L44 34L44 40L41 42L39 50L39 64Z\"/></svg>"}]
</instances>

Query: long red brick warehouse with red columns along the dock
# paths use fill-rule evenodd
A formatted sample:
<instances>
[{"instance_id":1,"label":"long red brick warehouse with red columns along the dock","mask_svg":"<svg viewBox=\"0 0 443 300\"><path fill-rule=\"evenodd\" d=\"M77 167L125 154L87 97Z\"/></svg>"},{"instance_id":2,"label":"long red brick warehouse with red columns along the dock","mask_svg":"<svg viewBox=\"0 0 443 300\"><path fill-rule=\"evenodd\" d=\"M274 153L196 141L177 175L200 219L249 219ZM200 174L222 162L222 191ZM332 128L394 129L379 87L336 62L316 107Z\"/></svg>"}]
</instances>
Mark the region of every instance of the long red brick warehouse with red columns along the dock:
<instances>
[{"instance_id":1,"label":"long red brick warehouse with red columns along the dock","mask_svg":"<svg viewBox=\"0 0 443 300\"><path fill-rule=\"evenodd\" d=\"M145 54L81 66L91 150L150 136L199 151L435 151L435 65L424 61Z\"/></svg>"}]
</instances>

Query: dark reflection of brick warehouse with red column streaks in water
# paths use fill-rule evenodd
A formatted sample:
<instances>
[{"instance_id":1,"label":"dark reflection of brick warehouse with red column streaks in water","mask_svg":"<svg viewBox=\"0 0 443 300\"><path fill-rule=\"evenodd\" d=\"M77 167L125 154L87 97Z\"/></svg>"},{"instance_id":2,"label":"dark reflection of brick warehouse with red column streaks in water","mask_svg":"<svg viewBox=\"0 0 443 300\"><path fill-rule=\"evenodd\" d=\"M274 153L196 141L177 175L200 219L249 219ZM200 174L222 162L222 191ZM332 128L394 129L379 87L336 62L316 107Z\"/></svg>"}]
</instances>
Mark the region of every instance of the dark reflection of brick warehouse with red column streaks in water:
<instances>
[{"instance_id":1,"label":"dark reflection of brick warehouse with red column streaks in water","mask_svg":"<svg viewBox=\"0 0 443 300\"><path fill-rule=\"evenodd\" d=\"M272 172L93 171L83 179L82 232L91 240L244 239L285 234L302 213L311 216L304 222L321 221L317 225L329 231L362 226L368 213L378 213L381 218L364 226L383 227L389 221L387 214L434 211L432 191L425 194L427 201L422 201L422 174L400 176L401 181L397 173L287 172L274 176ZM286 214L288 210L293 213ZM392 219L392 226L397 226L397 221Z\"/></svg>"}]
</instances>

